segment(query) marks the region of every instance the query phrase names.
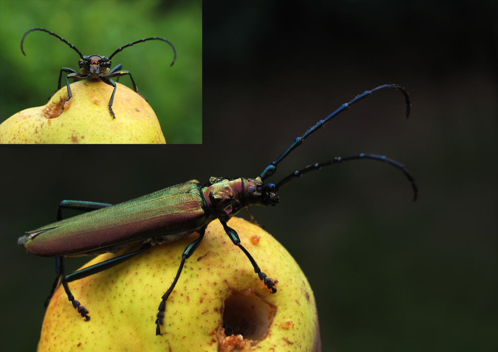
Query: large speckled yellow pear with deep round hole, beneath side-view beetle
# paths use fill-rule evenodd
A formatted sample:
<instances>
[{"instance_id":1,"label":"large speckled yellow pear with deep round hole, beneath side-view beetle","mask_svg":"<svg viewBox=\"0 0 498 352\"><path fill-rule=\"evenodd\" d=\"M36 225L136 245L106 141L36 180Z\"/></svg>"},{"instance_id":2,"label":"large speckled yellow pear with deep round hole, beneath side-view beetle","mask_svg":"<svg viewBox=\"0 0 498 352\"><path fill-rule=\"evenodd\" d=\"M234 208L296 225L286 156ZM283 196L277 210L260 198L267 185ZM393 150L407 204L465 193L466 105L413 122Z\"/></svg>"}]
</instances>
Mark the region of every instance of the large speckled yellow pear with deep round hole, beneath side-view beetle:
<instances>
[{"instance_id":1,"label":"large speckled yellow pear with deep round hole, beneath side-view beetle","mask_svg":"<svg viewBox=\"0 0 498 352\"><path fill-rule=\"evenodd\" d=\"M321 351L313 291L292 256L257 225L233 218L229 226L261 271L278 281L276 293L214 220L166 301L162 336L155 324L161 296L197 233L70 282L90 321L61 285L45 314L38 351ZM123 253L100 255L83 267Z\"/></svg>"}]
</instances>

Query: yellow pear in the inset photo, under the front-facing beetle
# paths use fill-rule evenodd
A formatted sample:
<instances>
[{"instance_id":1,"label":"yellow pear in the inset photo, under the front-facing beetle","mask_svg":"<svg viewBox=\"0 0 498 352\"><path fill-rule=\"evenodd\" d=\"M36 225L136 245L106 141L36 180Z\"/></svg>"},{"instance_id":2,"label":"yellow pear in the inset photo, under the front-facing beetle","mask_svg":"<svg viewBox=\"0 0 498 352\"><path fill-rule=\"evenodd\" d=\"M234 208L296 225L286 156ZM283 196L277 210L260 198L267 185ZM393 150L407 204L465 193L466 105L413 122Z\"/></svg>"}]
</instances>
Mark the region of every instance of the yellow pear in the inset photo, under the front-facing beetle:
<instances>
[{"instance_id":1,"label":"yellow pear in the inset photo, under the front-facing beetle","mask_svg":"<svg viewBox=\"0 0 498 352\"><path fill-rule=\"evenodd\" d=\"M100 79L71 84L57 91L44 106L22 110L0 125L0 143L8 144L164 144L157 117L149 104L128 87L117 83L113 110L109 100L113 87Z\"/></svg>"}]
</instances>

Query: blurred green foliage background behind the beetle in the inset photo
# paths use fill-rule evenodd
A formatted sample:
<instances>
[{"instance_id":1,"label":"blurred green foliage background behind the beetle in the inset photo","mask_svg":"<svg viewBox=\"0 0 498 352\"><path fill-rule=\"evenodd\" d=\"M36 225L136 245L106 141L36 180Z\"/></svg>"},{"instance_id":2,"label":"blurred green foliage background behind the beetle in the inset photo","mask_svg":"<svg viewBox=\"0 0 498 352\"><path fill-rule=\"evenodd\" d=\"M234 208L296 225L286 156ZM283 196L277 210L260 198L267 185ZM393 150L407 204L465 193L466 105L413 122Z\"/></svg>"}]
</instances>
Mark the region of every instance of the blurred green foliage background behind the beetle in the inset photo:
<instances>
[{"instance_id":1,"label":"blurred green foliage background behind the beetle in the inset photo","mask_svg":"<svg viewBox=\"0 0 498 352\"><path fill-rule=\"evenodd\" d=\"M152 36L113 58L135 80L161 124L166 143L202 143L202 1L0 1L0 123L18 111L44 105L56 90L62 67L77 71L78 54L111 55L129 42ZM128 77L120 83L132 87ZM118 94L118 93L117 93Z\"/></svg>"}]
</instances>

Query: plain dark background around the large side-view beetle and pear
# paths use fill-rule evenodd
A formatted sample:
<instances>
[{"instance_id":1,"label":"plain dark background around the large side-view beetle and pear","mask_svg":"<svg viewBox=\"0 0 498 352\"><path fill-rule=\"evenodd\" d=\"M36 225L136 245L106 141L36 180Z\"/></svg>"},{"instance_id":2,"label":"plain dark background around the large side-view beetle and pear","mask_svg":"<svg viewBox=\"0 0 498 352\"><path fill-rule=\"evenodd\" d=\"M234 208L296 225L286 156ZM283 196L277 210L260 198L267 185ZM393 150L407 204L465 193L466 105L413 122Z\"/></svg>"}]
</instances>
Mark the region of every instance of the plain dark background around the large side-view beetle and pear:
<instances>
[{"instance_id":1,"label":"plain dark background around the large side-view beetle and pear","mask_svg":"<svg viewBox=\"0 0 498 352\"><path fill-rule=\"evenodd\" d=\"M399 92L376 93L269 180L381 154L413 174L416 202L398 170L356 161L293 180L280 204L252 213L308 277L323 351L496 352L496 12L483 1L204 1L203 145L2 147L3 345L36 346L54 264L15 243L54 221L60 200L115 203L191 178L255 177L341 104L399 83L408 120Z\"/></svg>"}]
</instances>

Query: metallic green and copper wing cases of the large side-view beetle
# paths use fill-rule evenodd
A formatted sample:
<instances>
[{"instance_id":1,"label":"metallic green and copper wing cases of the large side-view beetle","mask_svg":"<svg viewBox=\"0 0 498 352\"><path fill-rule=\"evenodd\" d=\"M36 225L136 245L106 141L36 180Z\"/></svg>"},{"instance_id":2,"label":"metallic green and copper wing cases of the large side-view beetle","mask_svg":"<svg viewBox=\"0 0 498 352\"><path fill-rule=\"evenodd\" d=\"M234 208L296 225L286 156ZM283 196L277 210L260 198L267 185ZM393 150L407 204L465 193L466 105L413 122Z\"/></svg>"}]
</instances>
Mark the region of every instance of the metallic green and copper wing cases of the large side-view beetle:
<instances>
[{"instance_id":1,"label":"metallic green and copper wing cases of the large side-view beetle","mask_svg":"<svg viewBox=\"0 0 498 352\"><path fill-rule=\"evenodd\" d=\"M209 221L197 180L26 232L18 243L41 256L116 252L153 236L187 236Z\"/></svg>"}]
</instances>

